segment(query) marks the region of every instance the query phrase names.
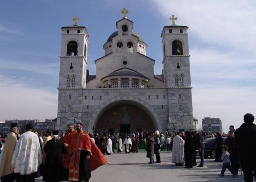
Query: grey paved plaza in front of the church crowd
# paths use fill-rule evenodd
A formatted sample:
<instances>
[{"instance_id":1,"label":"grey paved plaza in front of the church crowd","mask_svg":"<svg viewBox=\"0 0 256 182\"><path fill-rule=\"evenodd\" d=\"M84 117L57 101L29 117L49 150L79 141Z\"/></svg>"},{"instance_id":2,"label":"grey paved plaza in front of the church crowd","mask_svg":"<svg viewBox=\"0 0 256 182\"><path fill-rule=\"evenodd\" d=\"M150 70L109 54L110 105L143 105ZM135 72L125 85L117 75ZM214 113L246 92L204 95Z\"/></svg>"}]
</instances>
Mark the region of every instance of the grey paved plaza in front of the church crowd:
<instances>
[{"instance_id":1,"label":"grey paved plaza in front of the church crowd","mask_svg":"<svg viewBox=\"0 0 256 182\"><path fill-rule=\"evenodd\" d=\"M232 178L229 171L225 177L218 175L222 163L213 162L213 159L205 159L203 168L194 167L184 169L184 166L175 166L171 163L171 153L162 152L160 164L148 164L146 152L140 153L113 153L105 155L109 160L104 165L92 172L90 182L243 182L239 171L237 178ZM197 159L199 164L200 159ZM36 179L36 182L41 182Z\"/></svg>"}]
</instances>

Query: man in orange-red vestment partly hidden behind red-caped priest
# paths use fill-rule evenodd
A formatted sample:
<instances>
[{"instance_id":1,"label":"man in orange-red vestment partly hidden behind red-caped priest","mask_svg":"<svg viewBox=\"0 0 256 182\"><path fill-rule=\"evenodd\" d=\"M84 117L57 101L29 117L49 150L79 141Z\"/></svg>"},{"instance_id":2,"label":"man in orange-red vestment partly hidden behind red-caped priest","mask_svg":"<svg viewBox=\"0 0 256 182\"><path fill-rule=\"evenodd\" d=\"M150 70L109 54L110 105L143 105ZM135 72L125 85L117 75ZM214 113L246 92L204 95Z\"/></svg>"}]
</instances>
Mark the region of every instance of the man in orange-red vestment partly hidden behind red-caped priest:
<instances>
[{"instance_id":1,"label":"man in orange-red vestment partly hidden behind red-caped priest","mask_svg":"<svg viewBox=\"0 0 256 182\"><path fill-rule=\"evenodd\" d=\"M63 155L63 166L64 166L64 180L67 181L69 175L69 150L68 146L71 143L71 134L77 133L77 131L73 128L72 124L67 125L67 131L63 137L63 142L66 147L66 154Z\"/></svg>"}]
</instances>

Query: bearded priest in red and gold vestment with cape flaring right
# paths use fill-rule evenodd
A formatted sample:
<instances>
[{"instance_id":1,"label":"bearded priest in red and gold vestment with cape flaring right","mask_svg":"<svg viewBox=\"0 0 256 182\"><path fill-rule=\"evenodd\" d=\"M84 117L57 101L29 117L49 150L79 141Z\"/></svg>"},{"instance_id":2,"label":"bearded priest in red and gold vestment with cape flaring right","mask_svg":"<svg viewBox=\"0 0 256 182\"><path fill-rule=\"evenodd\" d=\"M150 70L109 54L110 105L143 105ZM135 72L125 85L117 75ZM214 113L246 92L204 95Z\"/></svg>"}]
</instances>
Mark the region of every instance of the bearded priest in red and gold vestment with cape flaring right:
<instances>
[{"instance_id":1,"label":"bearded priest in red and gold vestment with cape flaring right","mask_svg":"<svg viewBox=\"0 0 256 182\"><path fill-rule=\"evenodd\" d=\"M83 124L76 124L77 133L71 134L71 143L68 147L70 164L69 180L72 182L89 182L91 171L103 164L108 164L98 146L91 137L83 131Z\"/></svg>"}]
</instances>

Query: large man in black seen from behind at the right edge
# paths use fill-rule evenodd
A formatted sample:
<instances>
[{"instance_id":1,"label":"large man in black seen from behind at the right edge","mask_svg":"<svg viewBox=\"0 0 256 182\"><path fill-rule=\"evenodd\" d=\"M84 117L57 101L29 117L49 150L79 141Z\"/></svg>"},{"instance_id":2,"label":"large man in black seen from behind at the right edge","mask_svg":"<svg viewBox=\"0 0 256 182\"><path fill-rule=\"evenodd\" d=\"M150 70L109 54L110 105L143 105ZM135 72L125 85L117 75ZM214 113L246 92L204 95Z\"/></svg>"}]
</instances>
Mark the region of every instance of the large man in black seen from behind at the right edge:
<instances>
[{"instance_id":1,"label":"large man in black seen from behind at the right edge","mask_svg":"<svg viewBox=\"0 0 256 182\"><path fill-rule=\"evenodd\" d=\"M256 125L254 115L244 115L244 123L235 132L240 162L244 172L245 182L253 182L256 178Z\"/></svg>"}]
</instances>

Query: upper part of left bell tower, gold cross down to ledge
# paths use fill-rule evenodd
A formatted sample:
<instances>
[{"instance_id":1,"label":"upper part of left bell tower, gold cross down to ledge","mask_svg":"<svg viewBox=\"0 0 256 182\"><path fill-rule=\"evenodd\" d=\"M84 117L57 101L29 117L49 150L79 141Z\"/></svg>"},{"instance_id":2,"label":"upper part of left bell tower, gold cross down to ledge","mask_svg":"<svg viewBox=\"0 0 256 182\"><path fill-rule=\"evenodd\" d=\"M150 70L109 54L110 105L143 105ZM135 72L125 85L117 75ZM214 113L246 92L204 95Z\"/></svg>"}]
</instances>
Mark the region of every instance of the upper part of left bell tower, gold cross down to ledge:
<instances>
[{"instance_id":1,"label":"upper part of left bell tower, gold cross down to ledge","mask_svg":"<svg viewBox=\"0 0 256 182\"><path fill-rule=\"evenodd\" d=\"M88 32L78 26L79 18L73 18L74 25L61 27L61 51L59 88L86 88Z\"/></svg>"}]
</instances>

